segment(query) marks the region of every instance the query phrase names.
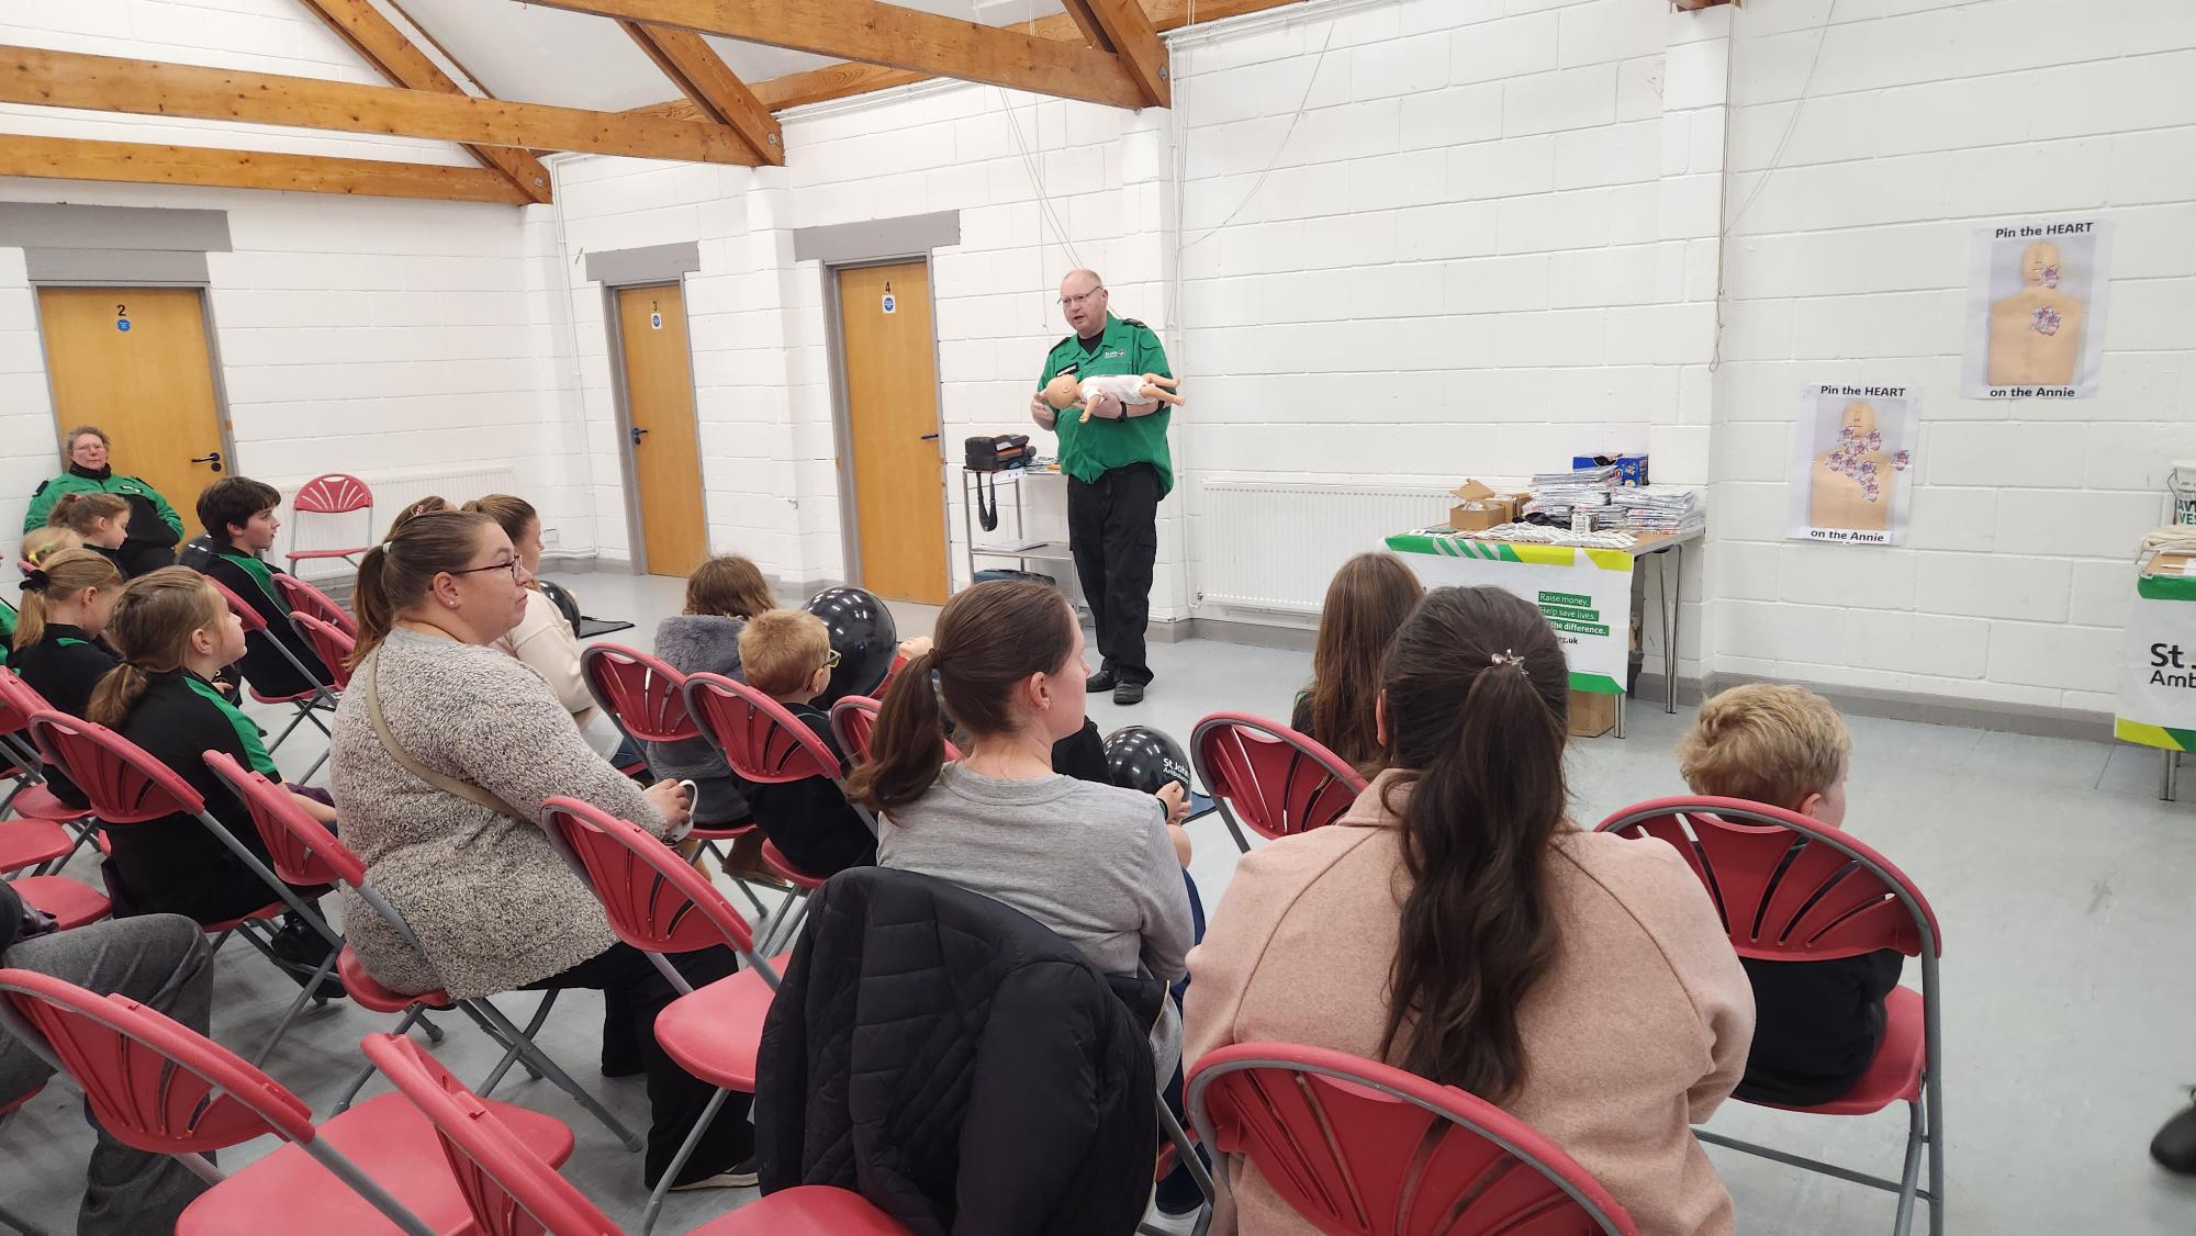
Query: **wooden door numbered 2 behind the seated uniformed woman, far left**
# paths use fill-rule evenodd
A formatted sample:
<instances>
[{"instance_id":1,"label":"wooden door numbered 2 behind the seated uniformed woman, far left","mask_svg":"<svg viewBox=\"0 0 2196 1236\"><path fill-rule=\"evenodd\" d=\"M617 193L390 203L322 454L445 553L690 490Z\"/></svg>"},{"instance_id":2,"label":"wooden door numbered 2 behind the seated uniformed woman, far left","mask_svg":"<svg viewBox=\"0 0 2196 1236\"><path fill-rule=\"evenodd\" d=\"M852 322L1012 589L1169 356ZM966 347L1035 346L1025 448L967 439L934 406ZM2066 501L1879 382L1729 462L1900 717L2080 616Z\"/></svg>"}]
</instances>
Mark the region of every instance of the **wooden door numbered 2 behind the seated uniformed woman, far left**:
<instances>
[{"instance_id":1,"label":"wooden door numbered 2 behind the seated uniformed woman, far left","mask_svg":"<svg viewBox=\"0 0 2196 1236\"><path fill-rule=\"evenodd\" d=\"M198 492L224 474L215 465L235 465L222 454L198 290L40 288L37 316L55 439L86 424L103 428L114 474L143 479L191 527Z\"/></svg>"}]
</instances>

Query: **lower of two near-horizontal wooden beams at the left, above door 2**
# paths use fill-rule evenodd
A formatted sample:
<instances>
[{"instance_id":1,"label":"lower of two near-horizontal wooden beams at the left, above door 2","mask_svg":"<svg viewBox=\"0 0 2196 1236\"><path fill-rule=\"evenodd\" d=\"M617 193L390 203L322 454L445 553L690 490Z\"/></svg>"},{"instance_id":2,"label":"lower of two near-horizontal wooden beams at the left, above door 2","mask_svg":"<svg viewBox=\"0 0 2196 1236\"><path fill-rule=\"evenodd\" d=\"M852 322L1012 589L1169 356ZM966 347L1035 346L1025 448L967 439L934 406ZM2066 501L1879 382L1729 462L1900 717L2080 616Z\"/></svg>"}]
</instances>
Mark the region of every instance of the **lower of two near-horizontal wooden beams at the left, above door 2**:
<instances>
[{"instance_id":1,"label":"lower of two near-horizontal wooden beams at the left, above door 2","mask_svg":"<svg viewBox=\"0 0 2196 1236\"><path fill-rule=\"evenodd\" d=\"M294 193L505 202L512 206L529 202L498 169L15 134L0 134L0 176L288 189Z\"/></svg>"}]
</instances>

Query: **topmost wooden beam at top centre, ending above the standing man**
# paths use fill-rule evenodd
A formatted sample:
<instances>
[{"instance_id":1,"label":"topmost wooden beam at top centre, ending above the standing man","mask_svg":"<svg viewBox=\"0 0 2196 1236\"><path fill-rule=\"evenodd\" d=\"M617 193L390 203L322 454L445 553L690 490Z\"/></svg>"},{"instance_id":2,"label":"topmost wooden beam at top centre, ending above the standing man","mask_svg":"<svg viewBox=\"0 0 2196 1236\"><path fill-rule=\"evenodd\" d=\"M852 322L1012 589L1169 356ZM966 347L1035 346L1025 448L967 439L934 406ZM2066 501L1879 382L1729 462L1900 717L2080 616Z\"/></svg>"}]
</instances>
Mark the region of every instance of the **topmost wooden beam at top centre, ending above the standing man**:
<instances>
[{"instance_id":1,"label":"topmost wooden beam at top centre, ending above the standing man","mask_svg":"<svg viewBox=\"0 0 2196 1236\"><path fill-rule=\"evenodd\" d=\"M1135 77L1118 55L878 0L536 2L1109 108L1144 105Z\"/></svg>"}]
</instances>

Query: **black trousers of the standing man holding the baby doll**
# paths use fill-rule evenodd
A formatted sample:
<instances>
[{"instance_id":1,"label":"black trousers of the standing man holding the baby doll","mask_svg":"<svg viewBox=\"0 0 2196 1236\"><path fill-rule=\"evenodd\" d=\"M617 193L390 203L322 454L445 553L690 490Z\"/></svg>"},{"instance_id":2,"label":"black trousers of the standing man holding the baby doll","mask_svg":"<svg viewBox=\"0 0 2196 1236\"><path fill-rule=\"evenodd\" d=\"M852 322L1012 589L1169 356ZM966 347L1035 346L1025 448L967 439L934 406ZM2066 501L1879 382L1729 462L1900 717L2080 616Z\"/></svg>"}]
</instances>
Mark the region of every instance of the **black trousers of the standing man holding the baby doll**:
<instances>
[{"instance_id":1,"label":"black trousers of the standing man holding the baby doll","mask_svg":"<svg viewBox=\"0 0 2196 1236\"><path fill-rule=\"evenodd\" d=\"M1144 626L1151 621L1151 564L1159 555L1159 470L1131 463L1089 485L1069 476L1067 549L1098 623L1098 667L1122 683L1149 683Z\"/></svg>"}]
</instances>

